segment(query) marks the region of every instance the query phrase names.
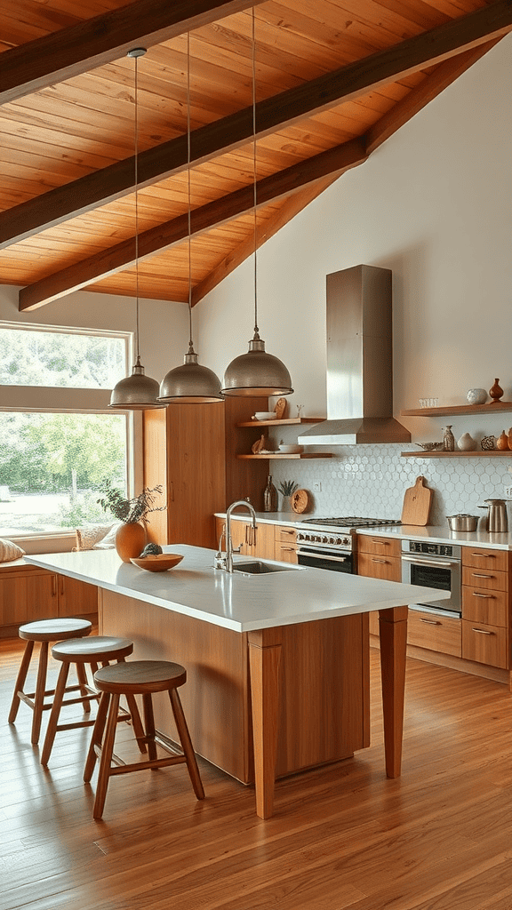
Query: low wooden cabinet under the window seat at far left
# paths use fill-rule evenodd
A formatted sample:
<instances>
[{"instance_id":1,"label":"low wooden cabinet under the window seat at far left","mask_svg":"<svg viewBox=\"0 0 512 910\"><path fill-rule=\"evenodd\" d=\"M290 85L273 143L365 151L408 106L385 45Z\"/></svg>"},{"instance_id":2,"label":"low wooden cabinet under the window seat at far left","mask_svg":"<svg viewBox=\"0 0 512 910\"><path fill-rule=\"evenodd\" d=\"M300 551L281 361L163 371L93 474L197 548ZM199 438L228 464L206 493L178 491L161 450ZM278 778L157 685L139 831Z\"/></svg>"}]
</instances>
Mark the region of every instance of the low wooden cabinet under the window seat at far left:
<instances>
[{"instance_id":1,"label":"low wooden cabinet under the window seat at far left","mask_svg":"<svg viewBox=\"0 0 512 910\"><path fill-rule=\"evenodd\" d=\"M24 622L97 613L97 587L24 564L0 568L0 634Z\"/></svg>"}]
</instances>

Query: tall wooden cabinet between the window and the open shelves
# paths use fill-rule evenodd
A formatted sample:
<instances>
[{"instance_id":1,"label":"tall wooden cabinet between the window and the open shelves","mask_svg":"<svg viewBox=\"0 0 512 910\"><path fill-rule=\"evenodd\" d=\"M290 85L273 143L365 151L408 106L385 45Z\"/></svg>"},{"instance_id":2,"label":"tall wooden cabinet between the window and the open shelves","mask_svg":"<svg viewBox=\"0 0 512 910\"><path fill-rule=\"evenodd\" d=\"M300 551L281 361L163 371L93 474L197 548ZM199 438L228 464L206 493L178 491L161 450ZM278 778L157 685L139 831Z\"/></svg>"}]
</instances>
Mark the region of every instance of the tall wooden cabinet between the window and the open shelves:
<instances>
[{"instance_id":1,"label":"tall wooden cabinet between the window and the open shelves","mask_svg":"<svg viewBox=\"0 0 512 910\"><path fill-rule=\"evenodd\" d=\"M236 456L251 450L251 430L237 424L263 406L266 398L228 398L144 412L144 486L161 484L167 503L149 515L148 540L213 548L215 512L246 497L261 511L268 465Z\"/></svg>"}]
</instances>

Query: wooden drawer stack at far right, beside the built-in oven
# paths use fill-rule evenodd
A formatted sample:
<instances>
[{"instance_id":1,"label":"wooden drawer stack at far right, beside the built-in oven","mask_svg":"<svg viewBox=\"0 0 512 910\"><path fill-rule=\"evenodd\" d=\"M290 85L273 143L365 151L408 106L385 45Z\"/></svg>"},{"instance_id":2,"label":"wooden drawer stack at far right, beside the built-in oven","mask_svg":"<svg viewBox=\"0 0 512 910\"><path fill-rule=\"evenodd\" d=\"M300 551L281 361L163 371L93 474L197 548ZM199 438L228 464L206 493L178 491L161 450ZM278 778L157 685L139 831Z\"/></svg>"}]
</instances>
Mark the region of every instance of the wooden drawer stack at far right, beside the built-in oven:
<instances>
[{"instance_id":1,"label":"wooden drawer stack at far right, beside the built-in oven","mask_svg":"<svg viewBox=\"0 0 512 910\"><path fill-rule=\"evenodd\" d=\"M462 656L468 661L510 667L508 567L508 551L463 547Z\"/></svg>"}]
</instances>

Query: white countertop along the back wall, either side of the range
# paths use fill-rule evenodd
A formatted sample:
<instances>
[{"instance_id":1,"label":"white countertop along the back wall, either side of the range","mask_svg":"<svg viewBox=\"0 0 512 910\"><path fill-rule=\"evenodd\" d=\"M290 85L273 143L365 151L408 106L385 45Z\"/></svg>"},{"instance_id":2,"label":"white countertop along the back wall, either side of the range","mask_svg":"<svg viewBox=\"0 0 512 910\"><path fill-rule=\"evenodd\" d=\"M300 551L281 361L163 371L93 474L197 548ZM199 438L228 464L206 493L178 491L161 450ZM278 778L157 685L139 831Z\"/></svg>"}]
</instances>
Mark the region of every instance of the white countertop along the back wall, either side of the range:
<instances>
[{"instance_id":1,"label":"white countertop along the back wall, either side of the range","mask_svg":"<svg viewBox=\"0 0 512 910\"><path fill-rule=\"evenodd\" d=\"M217 512L217 518L225 518L225 512ZM308 528L319 531L335 531L335 528L326 528L319 521L318 524L309 523L314 518L311 514L291 515L290 512L256 512L257 521L261 524L281 524L299 529L302 521L308 520ZM249 512L233 512L231 519L235 521L250 521ZM489 534L488 531L450 531L447 524L443 526L426 525L418 527L412 524L381 525L379 528L364 528L357 534L369 534L371 537L398 537L404 540L433 541L435 543L457 543L460 546L487 547L496 550L512 549L512 534Z\"/></svg>"}]
</instances>

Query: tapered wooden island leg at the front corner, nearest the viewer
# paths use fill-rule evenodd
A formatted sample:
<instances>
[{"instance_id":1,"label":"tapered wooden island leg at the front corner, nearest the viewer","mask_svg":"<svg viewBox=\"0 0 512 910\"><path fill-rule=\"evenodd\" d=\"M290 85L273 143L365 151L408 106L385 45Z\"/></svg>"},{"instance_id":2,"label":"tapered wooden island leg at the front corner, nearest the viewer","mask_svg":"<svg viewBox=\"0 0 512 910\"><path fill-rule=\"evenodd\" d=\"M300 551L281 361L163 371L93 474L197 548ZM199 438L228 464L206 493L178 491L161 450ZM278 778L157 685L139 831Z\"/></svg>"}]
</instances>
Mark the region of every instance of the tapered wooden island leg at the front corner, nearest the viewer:
<instances>
[{"instance_id":1,"label":"tapered wooden island leg at the front corner, nearest the viewer","mask_svg":"<svg viewBox=\"0 0 512 910\"><path fill-rule=\"evenodd\" d=\"M281 630L248 633L256 814L273 814L279 717Z\"/></svg>"}]
</instances>

